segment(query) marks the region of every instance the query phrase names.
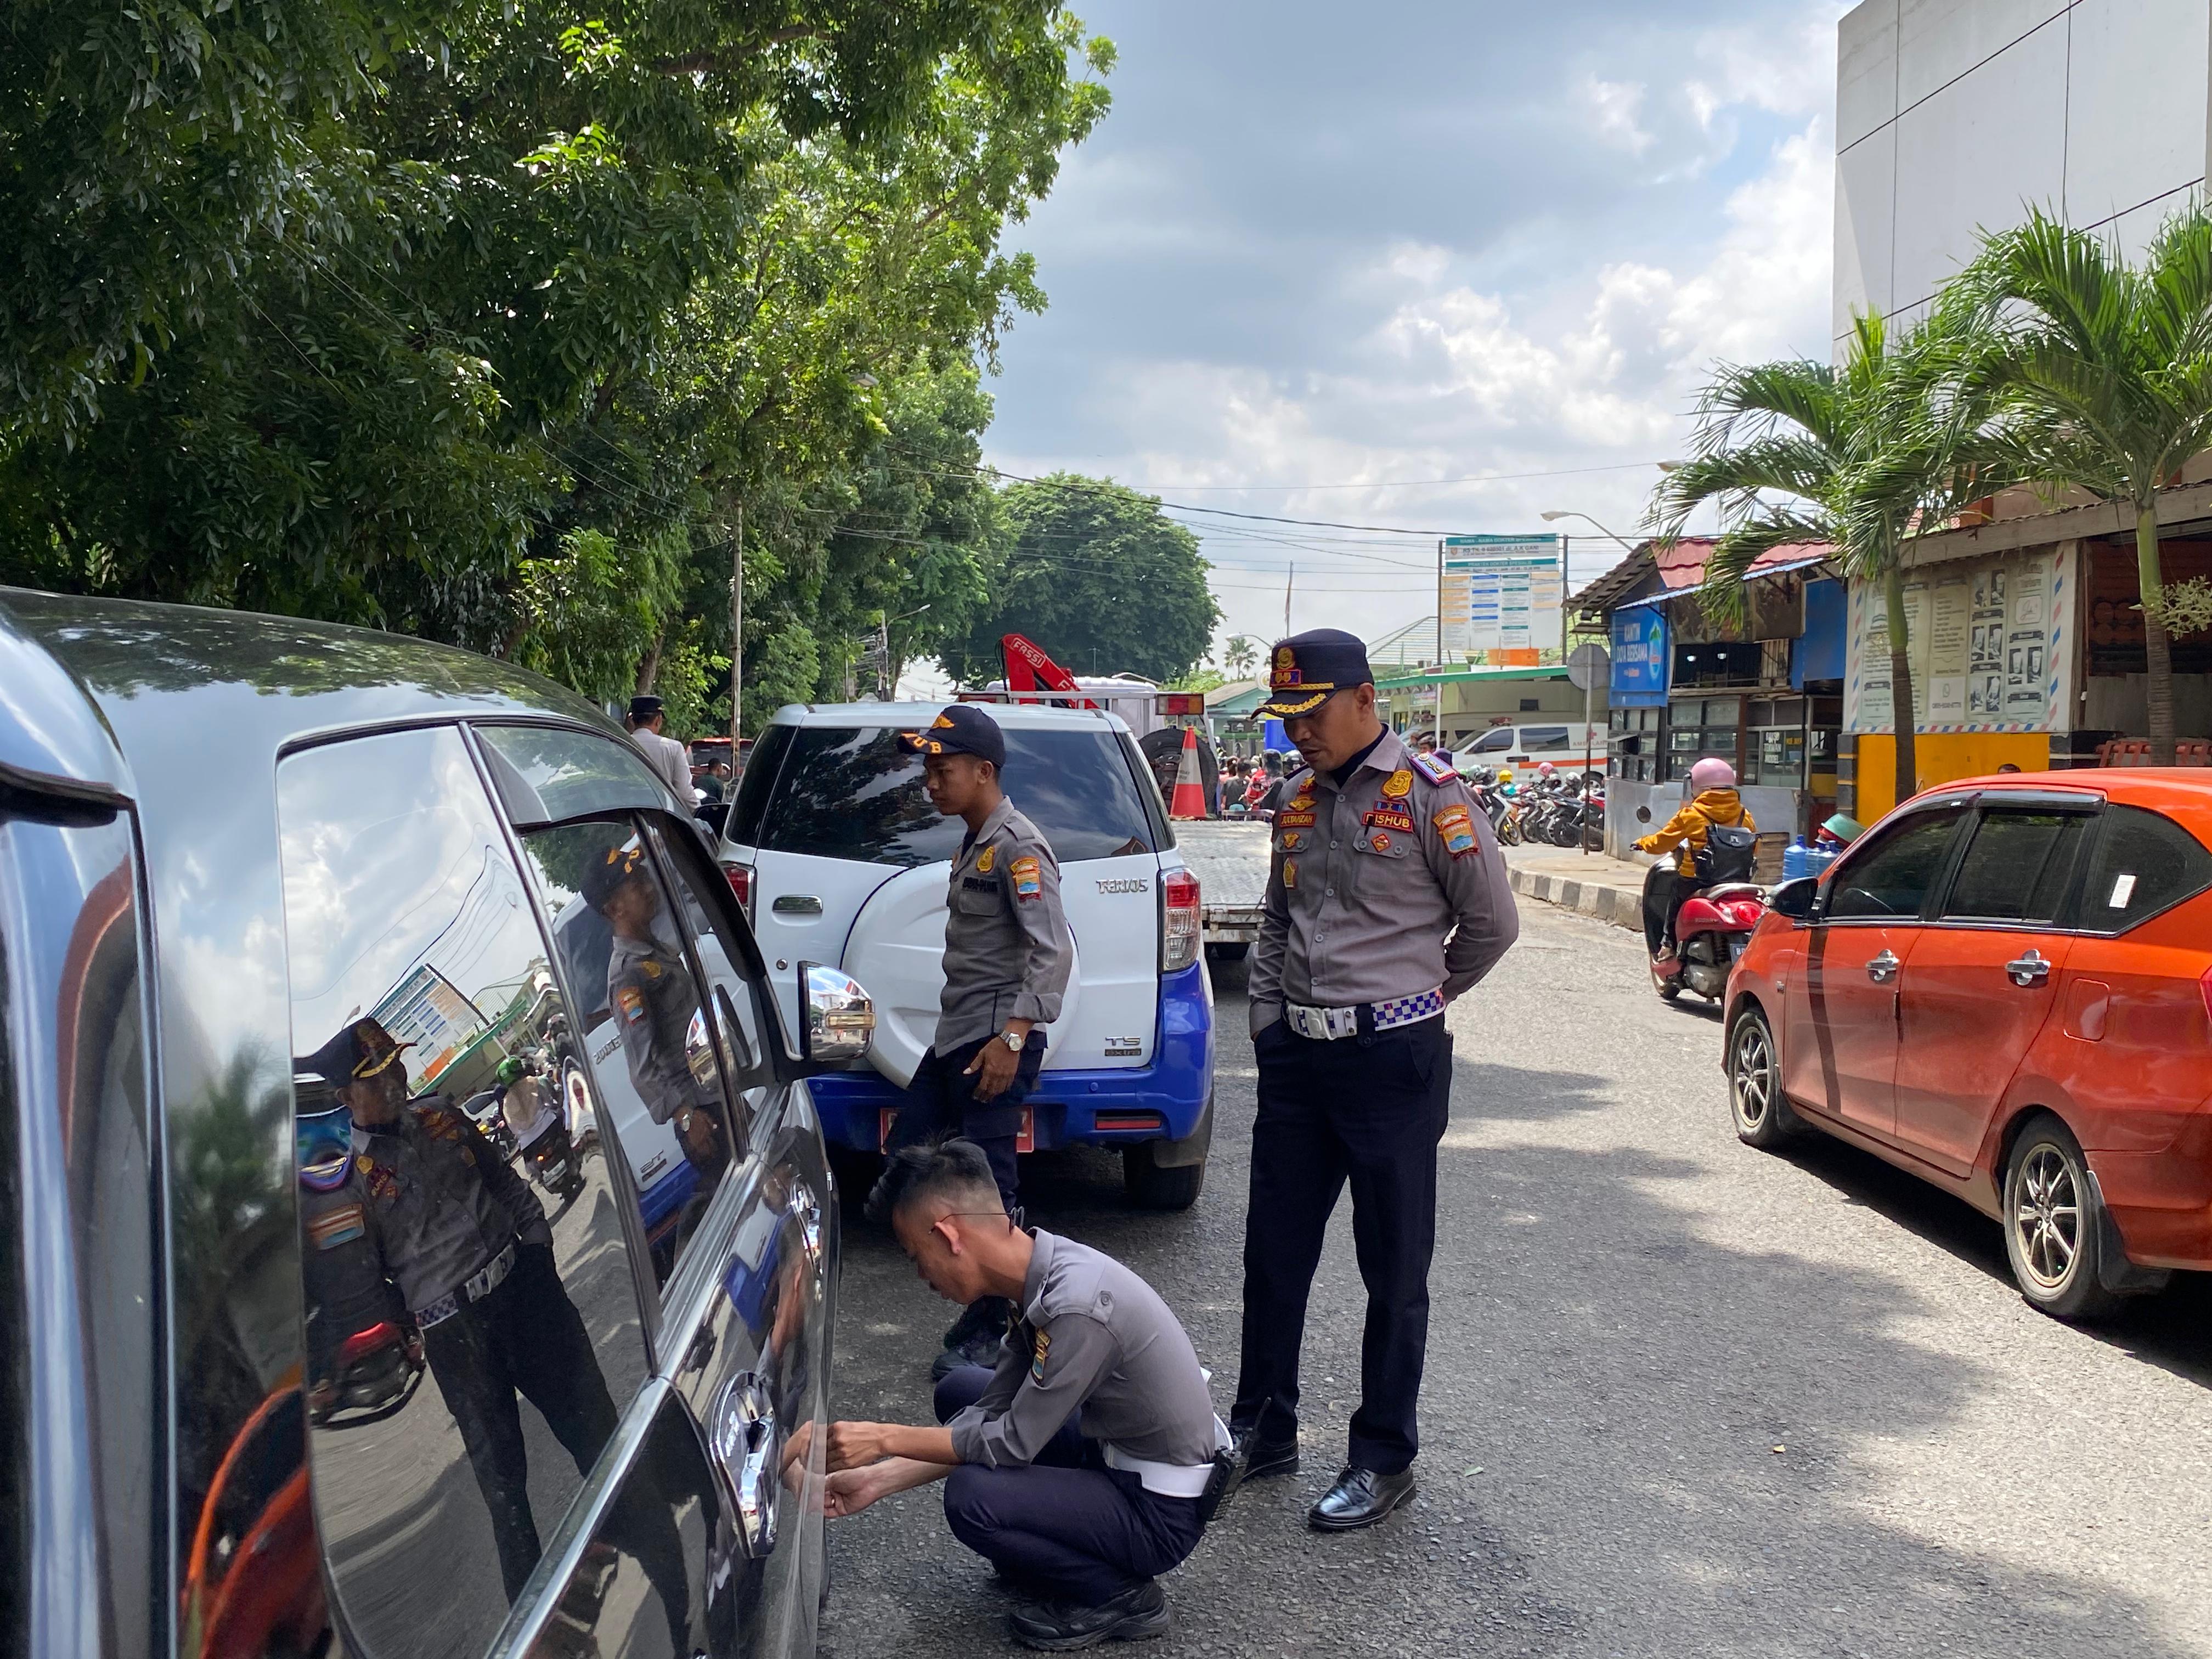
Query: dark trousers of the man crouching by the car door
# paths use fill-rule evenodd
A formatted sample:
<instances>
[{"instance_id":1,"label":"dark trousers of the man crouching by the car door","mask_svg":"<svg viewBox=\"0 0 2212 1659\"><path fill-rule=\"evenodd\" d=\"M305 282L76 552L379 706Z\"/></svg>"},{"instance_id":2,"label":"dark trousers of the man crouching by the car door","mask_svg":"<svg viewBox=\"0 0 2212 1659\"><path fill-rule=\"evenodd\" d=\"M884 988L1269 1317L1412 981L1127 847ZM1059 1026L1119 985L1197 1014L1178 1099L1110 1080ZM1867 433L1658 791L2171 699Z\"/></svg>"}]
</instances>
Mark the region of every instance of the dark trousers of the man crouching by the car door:
<instances>
[{"instance_id":1,"label":"dark trousers of the man crouching by the car door","mask_svg":"<svg viewBox=\"0 0 2212 1659\"><path fill-rule=\"evenodd\" d=\"M938 1422L975 1405L989 1383L982 1365L949 1371L938 1383ZM1197 1498L1161 1498L1126 1469L1108 1469L1073 1416L1026 1469L953 1469L945 1522L1009 1579L1086 1608L1179 1566L1206 1531Z\"/></svg>"}]
</instances>

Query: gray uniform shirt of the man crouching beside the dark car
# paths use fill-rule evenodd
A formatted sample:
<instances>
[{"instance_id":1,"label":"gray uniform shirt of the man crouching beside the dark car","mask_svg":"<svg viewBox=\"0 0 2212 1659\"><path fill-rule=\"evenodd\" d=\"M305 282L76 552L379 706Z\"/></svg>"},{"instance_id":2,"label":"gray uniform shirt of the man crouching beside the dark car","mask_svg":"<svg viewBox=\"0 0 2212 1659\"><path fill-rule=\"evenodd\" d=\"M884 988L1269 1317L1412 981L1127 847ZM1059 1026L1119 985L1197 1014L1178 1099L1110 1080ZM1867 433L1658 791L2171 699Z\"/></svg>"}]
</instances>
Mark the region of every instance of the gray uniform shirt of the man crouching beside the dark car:
<instances>
[{"instance_id":1,"label":"gray uniform shirt of the man crouching beside the dark car","mask_svg":"<svg viewBox=\"0 0 2212 1659\"><path fill-rule=\"evenodd\" d=\"M1219 1447L1214 1402L1190 1336L1148 1283L1091 1245L1042 1228L1022 1283L1022 1321L982 1398L956 1416L960 1462L1020 1469L1071 1411L1130 1458L1197 1467Z\"/></svg>"}]
</instances>

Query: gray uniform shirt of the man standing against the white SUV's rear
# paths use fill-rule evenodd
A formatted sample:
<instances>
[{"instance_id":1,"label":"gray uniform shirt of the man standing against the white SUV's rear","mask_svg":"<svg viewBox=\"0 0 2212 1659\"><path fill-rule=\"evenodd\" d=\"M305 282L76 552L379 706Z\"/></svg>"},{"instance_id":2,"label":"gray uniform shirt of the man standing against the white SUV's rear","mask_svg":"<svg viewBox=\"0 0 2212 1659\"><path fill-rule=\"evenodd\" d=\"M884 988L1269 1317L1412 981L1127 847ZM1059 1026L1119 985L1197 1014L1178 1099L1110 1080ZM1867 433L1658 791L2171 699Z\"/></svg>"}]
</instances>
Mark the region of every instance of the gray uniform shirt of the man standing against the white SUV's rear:
<instances>
[{"instance_id":1,"label":"gray uniform shirt of the man standing against the white SUV's rear","mask_svg":"<svg viewBox=\"0 0 2212 1659\"><path fill-rule=\"evenodd\" d=\"M953 858L938 1053L993 1037L1009 1020L1057 1020L1073 962L1060 860L1037 825L1000 801Z\"/></svg>"}]
</instances>

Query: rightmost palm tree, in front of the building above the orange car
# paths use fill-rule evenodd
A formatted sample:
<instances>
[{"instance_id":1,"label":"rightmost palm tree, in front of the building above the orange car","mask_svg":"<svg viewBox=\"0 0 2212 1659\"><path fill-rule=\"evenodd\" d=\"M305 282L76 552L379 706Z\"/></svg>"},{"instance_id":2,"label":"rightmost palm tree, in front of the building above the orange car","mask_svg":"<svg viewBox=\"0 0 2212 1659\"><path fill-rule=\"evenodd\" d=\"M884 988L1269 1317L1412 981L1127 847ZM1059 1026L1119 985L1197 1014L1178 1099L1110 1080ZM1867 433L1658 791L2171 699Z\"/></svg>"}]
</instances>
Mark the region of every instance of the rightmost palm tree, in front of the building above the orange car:
<instances>
[{"instance_id":1,"label":"rightmost palm tree, in front of the building above the orange car","mask_svg":"<svg viewBox=\"0 0 2212 1659\"><path fill-rule=\"evenodd\" d=\"M2150 757L2170 761L2170 641L2201 615L2166 586L2157 495L2212 447L2212 217L2174 215L2128 265L2117 243L2031 212L1984 241L1960 290L1980 310L1975 378L2002 400L2011 465L2135 513Z\"/></svg>"}]
</instances>

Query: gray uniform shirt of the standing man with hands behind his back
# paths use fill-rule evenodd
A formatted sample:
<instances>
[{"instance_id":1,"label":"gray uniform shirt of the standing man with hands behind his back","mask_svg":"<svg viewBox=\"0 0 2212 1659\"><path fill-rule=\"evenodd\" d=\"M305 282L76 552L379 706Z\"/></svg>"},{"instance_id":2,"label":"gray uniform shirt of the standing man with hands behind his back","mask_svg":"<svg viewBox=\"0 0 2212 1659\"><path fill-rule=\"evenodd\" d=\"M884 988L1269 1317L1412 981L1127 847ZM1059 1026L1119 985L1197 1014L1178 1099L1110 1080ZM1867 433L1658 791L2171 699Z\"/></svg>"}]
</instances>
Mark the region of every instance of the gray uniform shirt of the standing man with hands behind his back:
<instances>
[{"instance_id":1,"label":"gray uniform shirt of the standing man with hands behind his back","mask_svg":"<svg viewBox=\"0 0 2212 1659\"><path fill-rule=\"evenodd\" d=\"M1283 1002L1455 998L1520 938L1489 814L1447 765L1385 732L1338 790L1290 779L1252 951L1252 1035Z\"/></svg>"}]
</instances>

